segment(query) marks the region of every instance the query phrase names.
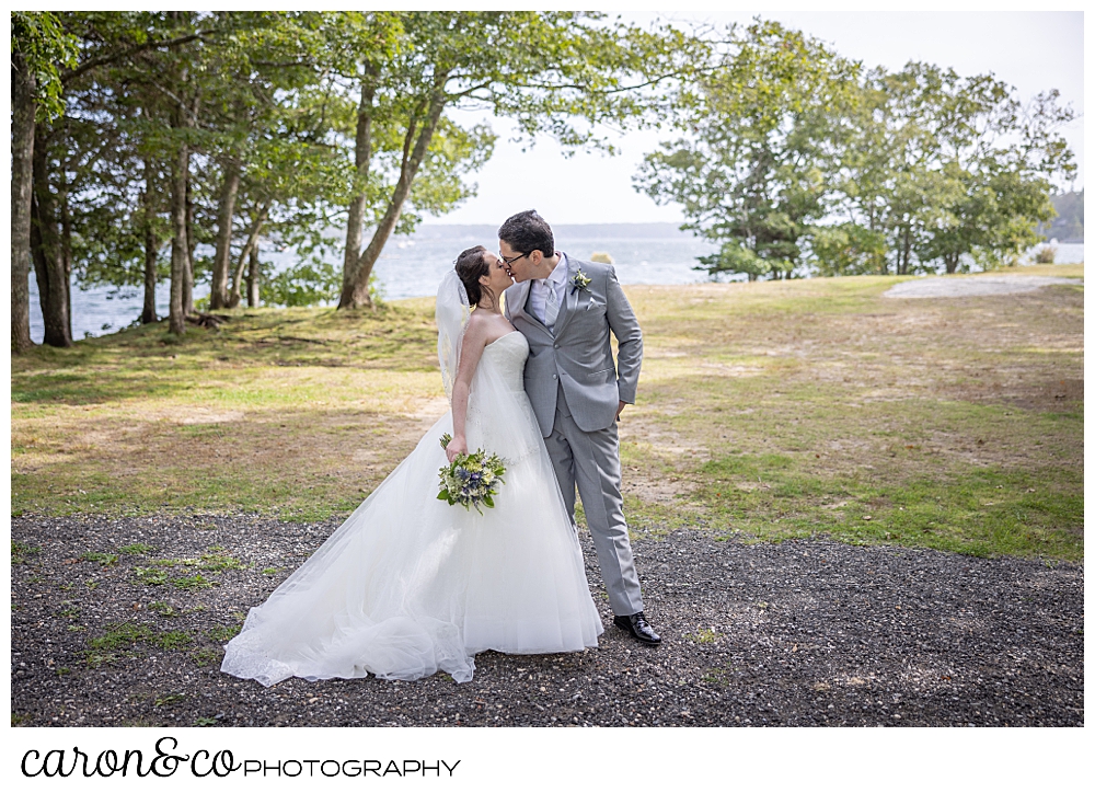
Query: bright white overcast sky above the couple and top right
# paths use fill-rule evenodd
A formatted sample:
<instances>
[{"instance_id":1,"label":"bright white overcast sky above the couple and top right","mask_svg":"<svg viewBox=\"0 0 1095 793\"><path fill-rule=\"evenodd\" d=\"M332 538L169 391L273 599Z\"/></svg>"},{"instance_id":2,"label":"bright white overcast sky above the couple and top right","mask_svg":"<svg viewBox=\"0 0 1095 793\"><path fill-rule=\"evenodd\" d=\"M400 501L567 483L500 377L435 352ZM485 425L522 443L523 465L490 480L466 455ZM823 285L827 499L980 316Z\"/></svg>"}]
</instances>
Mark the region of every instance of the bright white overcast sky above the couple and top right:
<instances>
[{"instance_id":1,"label":"bright white overcast sky above the couple and top right","mask_svg":"<svg viewBox=\"0 0 1095 793\"><path fill-rule=\"evenodd\" d=\"M867 68L898 70L909 60L953 67L959 74L992 72L1018 90L1023 100L1056 88L1063 102L1083 113L1083 13L947 12L947 11L762 11L713 12L676 3L676 11L631 13L625 19L647 23L656 16L682 22L748 23L760 14L829 42L844 57ZM690 10L691 9L691 10ZM461 123L470 114L457 116ZM531 151L508 140L511 125L489 118L499 135L495 154L472 176L479 195L430 222L497 223L515 211L534 207L553 223L680 221L676 205L658 206L636 193L632 175L643 154L654 150L665 133L630 134L619 140L622 153L563 157L550 139ZM1083 118L1065 129L1080 166L1075 187L1083 186Z\"/></svg>"}]
</instances>

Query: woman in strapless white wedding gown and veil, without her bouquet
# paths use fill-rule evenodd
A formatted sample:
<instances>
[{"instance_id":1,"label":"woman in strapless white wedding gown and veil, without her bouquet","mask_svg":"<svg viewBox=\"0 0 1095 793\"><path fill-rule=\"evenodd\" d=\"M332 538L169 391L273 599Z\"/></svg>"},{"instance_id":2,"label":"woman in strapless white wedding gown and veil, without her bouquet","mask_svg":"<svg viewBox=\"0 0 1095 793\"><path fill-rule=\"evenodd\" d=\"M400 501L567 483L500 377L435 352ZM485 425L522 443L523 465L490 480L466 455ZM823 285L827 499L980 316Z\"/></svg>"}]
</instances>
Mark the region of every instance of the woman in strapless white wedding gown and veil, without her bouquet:
<instances>
[{"instance_id":1,"label":"woman in strapless white wedding gown and veil, without her bouquet","mask_svg":"<svg viewBox=\"0 0 1095 793\"><path fill-rule=\"evenodd\" d=\"M603 631L532 406L529 345L502 314L512 283L482 245L437 295L438 357L452 410L326 542L251 609L221 670L273 686L365 677L472 679L472 658L561 653ZM472 311L472 307L475 308ZM441 436L452 435L447 449ZM494 508L437 499L438 469L483 448L506 462Z\"/></svg>"}]
</instances>

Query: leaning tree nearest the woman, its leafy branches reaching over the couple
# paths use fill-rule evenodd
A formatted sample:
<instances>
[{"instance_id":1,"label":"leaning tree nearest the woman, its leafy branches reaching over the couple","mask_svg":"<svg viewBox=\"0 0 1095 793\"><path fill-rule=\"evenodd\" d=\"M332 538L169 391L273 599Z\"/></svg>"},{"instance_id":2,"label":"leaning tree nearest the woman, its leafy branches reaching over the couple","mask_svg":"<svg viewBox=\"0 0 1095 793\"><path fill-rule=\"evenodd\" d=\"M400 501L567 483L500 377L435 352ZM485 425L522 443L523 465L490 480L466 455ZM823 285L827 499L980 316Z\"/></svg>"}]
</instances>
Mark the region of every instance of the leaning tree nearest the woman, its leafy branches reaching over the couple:
<instances>
[{"instance_id":1,"label":"leaning tree nearest the woman, its leafy branches reaching over the couple","mask_svg":"<svg viewBox=\"0 0 1095 793\"><path fill-rule=\"evenodd\" d=\"M516 117L527 135L577 147L597 141L592 125L626 124L655 107L638 89L689 60L677 32L572 12L347 13L331 35L360 97L339 308L370 303L372 267L393 232L413 228L415 210L445 211L471 194L460 175L485 162L494 137L461 129L447 108L487 107ZM362 250L368 220L374 230Z\"/></svg>"}]
</instances>

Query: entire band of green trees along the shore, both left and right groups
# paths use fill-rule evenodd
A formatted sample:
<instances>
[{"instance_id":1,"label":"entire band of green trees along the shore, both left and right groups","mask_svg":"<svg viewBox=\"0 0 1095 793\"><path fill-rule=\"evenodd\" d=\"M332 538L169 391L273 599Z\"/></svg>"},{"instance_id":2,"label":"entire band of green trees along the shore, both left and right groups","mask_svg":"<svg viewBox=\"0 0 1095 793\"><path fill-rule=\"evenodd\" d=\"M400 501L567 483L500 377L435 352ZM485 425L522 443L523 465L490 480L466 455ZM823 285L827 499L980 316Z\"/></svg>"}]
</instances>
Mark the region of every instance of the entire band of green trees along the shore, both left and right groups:
<instances>
[{"instance_id":1,"label":"entire band of green trees along the shore, both left and right groups","mask_svg":"<svg viewBox=\"0 0 1095 793\"><path fill-rule=\"evenodd\" d=\"M570 11L12 12L12 348L71 338L70 285L170 280L169 327L246 301L372 303L373 265L475 194L486 124L612 146L668 125L636 186L717 242L713 275L1012 262L1075 171L1047 91L865 70L774 22L725 35ZM1039 226L1039 223L1041 226ZM338 230L337 237L332 235ZM261 243L291 246L273 272ZM341 267L333 262L341 258Z\"/></svg>"}]
</instances>

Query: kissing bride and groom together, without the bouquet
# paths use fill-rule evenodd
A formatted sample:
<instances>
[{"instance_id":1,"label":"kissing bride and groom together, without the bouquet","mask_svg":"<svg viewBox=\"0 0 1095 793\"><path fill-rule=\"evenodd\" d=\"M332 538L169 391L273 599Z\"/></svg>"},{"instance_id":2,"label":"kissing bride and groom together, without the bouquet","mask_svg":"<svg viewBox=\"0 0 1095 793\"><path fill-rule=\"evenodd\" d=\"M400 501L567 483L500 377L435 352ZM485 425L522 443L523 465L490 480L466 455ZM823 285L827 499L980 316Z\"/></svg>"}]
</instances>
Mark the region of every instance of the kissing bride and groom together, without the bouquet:
<instances>
[{"instance_id":1,"label":"kissing bride and groom together, without the bouquet","mask_svg":"<svg viewBox=\"0 0 1095 793\"><path fill-rule=\"evenodd\" d=\"M464 251L438 289L451 410L251 609L222 671L264 686L438 670L466 682L485 650L597 646L604 629L578 544L575 489L614 624L660 644L643 611L620 493L616 422L635 400L638 322L611 265L556 251L534 210L506 220L498 238L497 255ZM506 468L483 514L437 497L439 469L477 449Z\"/></svg>"}]
</instances>

